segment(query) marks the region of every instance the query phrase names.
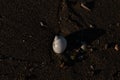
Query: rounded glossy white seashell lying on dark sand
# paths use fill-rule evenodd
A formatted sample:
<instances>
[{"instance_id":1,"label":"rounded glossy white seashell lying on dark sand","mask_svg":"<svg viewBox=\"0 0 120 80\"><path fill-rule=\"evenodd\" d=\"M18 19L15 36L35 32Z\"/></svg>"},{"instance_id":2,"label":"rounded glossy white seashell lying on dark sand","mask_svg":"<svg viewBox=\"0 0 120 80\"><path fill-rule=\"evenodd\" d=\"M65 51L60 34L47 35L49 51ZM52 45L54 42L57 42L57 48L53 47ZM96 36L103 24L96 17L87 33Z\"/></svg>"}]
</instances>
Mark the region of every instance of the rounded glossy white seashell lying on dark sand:
<instances>
[{"instance_id":1,"label":"rounded glossy white seashell lying on dark sand","mask_svg":"<svg viewBox=\"0 0 120 80\"><path fill-rule=\"evenodd\" d=\"M55 53L60 54L66 49L67 40L63 36L56 35L52 47Z\"/></svg>"}]
</instances>

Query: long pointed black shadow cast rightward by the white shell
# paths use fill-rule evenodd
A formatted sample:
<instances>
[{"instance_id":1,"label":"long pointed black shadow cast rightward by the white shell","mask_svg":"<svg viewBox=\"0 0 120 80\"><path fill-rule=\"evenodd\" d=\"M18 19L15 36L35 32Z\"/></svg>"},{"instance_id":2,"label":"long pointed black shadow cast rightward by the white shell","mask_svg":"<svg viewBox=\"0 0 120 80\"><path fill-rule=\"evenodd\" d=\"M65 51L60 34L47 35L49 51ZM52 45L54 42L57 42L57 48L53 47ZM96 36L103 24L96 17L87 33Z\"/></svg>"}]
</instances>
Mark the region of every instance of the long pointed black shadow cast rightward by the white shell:
<instances>
[{"instance_id":1,"label":"long pointed black shadow cast rightward by the white shell","mask_svg":"<svg viewBox=\"0 0 120 80\"><path fill-rule=\"evenodd\" d=\"M99 28L89 28L76 31L66 36L68 41L67 50L79 48L82 43L91 44L94 40L105 34L105 30Z\"/></svg>"}]
</instances>

